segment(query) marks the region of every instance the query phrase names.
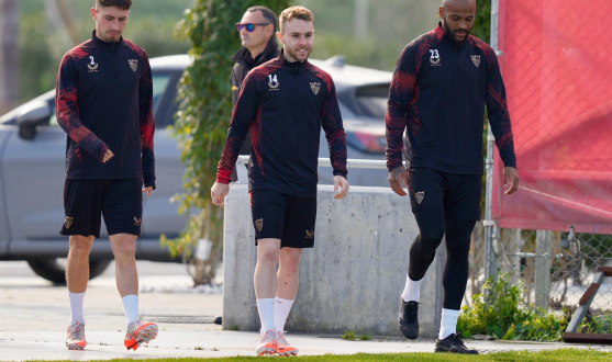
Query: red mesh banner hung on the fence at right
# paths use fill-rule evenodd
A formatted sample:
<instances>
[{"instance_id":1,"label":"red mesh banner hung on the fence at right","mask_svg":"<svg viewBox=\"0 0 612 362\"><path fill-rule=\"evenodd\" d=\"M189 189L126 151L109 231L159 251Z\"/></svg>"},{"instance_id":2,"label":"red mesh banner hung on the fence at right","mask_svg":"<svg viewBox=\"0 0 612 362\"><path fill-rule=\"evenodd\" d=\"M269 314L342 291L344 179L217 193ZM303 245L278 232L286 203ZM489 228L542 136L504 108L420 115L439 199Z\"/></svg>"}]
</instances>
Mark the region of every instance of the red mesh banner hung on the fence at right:
<instances>
[{"instance_id":1,"label":"red mesh banner hung on the fence at right","mask_svg":"<svg viewBox=\"0 0 612 362\"><path fill-rule=\"evenodd\" d=\"M504 228L612 234L611 0L500 0L500 64L521 189L492 216Z\"/></svg>"}]
</instances>

